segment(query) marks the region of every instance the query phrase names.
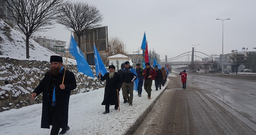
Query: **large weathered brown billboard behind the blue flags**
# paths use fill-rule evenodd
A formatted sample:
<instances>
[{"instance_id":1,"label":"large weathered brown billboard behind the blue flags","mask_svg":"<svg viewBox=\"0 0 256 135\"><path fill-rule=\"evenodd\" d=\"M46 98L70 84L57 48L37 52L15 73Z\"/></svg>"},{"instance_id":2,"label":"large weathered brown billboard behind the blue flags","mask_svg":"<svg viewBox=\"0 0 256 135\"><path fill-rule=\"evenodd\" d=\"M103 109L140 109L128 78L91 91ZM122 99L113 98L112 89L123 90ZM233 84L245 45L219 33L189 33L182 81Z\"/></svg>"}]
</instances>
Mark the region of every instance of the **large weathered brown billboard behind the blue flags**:
<instances>
[{"instance_id":1,"label":"large weathered brown billboard behind the blue flags","mask_svg":"<svg viewBox=\"0 0 256 135\"><path fill-rule=\"evenodd\" d=\"M93 54L93 44L99 52L108 52L107 26L97 27L87 30L85 35L82 35L80 40L80 50L83 54ZM78 37L74 34L74 39L78 44Z\"/></svg>"}]
</instances>

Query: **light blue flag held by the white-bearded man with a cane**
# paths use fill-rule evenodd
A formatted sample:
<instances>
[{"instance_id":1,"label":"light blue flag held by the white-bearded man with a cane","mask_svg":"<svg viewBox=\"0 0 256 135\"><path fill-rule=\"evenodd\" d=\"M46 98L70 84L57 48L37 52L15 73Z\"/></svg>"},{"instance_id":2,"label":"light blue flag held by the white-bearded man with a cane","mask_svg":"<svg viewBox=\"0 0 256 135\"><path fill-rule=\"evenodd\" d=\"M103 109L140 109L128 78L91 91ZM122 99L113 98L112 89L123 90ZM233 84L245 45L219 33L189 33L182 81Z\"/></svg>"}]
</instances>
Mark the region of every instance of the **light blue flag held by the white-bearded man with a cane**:
<instances>
[{"instance_id":1,"label":"light blue flag held by the white-bearded man with a cane","mask_svg":"<svg viewBox=\"0 0 256 135\"><path fill-rule=\"evenodd\" d=\"M100 54L95 45L94 45L94 61L95 61L95 67L96 67L96 76L98 76L99 73L102 74L102 76L104 76L104 74L107 73L107 69L105 68L104 63L102 62Z\"/></svg>"}]
</instances>

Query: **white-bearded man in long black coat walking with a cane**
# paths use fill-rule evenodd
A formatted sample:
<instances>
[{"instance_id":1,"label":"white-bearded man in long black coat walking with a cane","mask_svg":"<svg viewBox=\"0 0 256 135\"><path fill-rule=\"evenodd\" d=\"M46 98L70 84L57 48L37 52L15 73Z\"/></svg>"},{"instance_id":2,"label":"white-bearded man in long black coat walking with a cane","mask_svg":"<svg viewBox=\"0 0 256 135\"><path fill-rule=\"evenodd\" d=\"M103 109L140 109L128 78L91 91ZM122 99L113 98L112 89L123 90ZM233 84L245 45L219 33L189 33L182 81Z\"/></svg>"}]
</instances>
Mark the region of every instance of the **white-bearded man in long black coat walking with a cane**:
<instances>
[{"instance_id":1,"label":"white-bearded man in long black coat walking with a cane","mask_svg":"<svg viewBox=\"0 0 256 135\"><path fill-rule=\"evenodd\" d=\"M109 106L115 105L115 110L118 110L118 95L119 91L122 86L122 78L121 75L117 72L115 72L116 67L114 65L109 66L109 73L104 74L102 76L101 73L99 73L98 78L100 78L101 81L106 80L106 87L104 92L104 100L101 103L101 105L105 105L105 110L103 114L109 113Z\"/></svg>"}]
</instances>

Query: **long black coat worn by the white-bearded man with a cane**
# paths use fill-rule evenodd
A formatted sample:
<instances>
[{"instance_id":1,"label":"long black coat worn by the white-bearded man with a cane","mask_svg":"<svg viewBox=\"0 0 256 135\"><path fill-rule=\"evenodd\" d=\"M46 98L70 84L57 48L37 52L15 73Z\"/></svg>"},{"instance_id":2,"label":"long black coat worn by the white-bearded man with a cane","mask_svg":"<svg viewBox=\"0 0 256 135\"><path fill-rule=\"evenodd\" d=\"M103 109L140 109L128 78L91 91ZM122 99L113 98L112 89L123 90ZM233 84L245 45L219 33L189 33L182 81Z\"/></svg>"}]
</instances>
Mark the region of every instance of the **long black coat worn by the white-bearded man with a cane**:
<instances>
[{"instance_id":1,"label":"long black coat worn by the white-bearded man with a cane","mask_svg":"<svg viewBox=\"0 0 256 135\"><path fill-rule=\"evenodd\" d=\"M109 78L109 73L104 74L104 76L100 76L100 80L106 80L106 87L104 92L104 100L101 105L118 105L118 96L117 91L121 90L121 86L123 84L121 75L115 72L114 77L112 79ZM108 98L110 95L110 98ZM109 101L110 100L110 101Z\"/></svg>"}]
</instances>

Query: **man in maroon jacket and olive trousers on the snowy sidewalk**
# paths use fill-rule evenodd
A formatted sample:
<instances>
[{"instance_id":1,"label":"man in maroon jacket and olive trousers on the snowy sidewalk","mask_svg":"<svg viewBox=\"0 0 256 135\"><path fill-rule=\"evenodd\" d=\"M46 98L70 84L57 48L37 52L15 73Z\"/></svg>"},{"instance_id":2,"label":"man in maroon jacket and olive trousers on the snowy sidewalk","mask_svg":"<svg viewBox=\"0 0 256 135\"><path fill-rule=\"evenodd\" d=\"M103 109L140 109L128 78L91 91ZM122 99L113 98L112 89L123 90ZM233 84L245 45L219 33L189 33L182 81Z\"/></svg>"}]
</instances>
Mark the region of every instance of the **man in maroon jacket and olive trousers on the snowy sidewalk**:
<instances>
[{"instance_id":1,"label":"man in maroon jacket and olive trousers on the snowy sidewalk","mask_svg":"<svg viewBox=\"0 0 256 135\"><path fill-rule=\"evenodd\" d=\"M145 63L146 68L143 70L142 75L144 75L144 89L147 92L147 96L149 98L149 100L151 99L151 86L152 86L152 80L155 79L156 74L156 70L154 68L150 67L150 63L147 62Z\"/></svg>"}]
</instances>

